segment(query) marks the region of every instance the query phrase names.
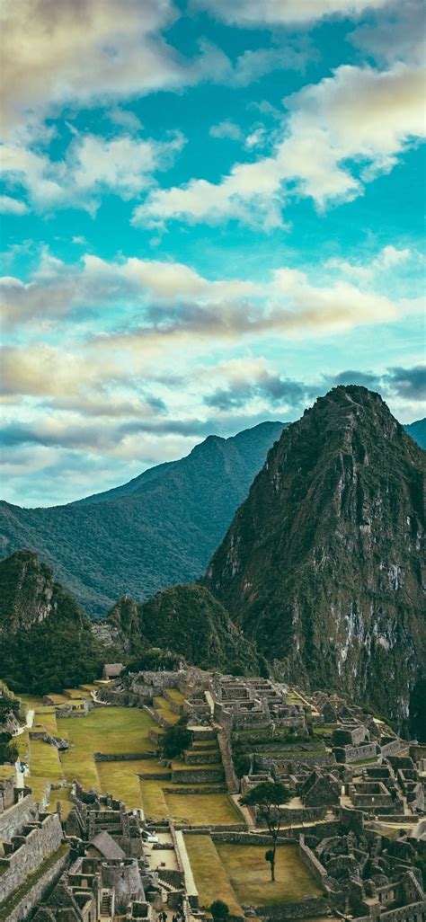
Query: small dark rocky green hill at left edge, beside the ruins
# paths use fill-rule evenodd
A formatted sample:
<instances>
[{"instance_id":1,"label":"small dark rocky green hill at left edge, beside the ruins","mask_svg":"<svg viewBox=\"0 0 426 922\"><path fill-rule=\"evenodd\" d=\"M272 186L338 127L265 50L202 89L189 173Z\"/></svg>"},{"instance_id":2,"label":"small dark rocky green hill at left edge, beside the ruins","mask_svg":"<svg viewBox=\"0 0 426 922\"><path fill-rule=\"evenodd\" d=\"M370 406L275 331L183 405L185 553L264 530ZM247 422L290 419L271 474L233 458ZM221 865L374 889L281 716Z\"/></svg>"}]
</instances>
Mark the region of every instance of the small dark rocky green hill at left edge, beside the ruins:
<instances>
[{"instance_id":1,"label":"small dark rocky green hill at left edge, beside the ruins","mask_svg":"<svg viewBox=\"0 0 426 922\"><path fill-rule=\"evenodd\" d=\"M88 616L31 550L0 562L1 678L13 691L60 691L93 680L105 652Z\"/></svg>"}]
</instances>

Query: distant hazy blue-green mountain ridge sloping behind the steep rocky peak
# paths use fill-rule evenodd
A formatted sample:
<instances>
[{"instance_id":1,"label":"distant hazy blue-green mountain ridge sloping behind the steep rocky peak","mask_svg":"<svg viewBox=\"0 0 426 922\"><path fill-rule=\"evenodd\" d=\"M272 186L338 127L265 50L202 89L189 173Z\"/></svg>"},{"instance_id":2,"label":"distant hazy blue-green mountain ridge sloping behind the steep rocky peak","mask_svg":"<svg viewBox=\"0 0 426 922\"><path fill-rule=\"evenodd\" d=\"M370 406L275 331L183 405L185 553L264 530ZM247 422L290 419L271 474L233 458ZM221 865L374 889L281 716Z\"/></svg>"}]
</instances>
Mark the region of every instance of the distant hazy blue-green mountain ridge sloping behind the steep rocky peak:
<instances>
[{"instance_id":1,"label":"distant hazy blue-green mountain ridge sloping behind the steep rocky peak","mask_svg":"<svg viewBox=\"0 0 426 922\"><path fill-rule=\"evenodd\" d=\"M50 509L0 502L6 556L36 550L91 615L196 579L282 431L264 422L230 439L209 436L187 457L116 490Z\"/></svg>"}]
</instances>

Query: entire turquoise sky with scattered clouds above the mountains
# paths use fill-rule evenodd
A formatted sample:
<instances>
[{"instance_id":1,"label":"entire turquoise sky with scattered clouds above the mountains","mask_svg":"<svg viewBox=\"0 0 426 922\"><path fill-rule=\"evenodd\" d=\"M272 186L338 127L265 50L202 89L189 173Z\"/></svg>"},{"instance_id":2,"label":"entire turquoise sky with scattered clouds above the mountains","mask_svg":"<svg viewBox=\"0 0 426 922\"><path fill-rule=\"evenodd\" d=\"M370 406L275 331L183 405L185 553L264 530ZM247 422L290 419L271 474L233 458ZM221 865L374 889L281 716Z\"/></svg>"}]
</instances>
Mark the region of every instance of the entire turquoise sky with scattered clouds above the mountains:
<instances>
[{"instance_id":1,"label":"entire turquoise sky with scattered clouds above the mountains","mask_svg":"<svg viewBox=\"0 0 426 922\"><path fill-rule=\"evenodd\" d=\"M6 0L3 494L338 383L424 415L418 0Z\"/></svg>"}]
</instances>

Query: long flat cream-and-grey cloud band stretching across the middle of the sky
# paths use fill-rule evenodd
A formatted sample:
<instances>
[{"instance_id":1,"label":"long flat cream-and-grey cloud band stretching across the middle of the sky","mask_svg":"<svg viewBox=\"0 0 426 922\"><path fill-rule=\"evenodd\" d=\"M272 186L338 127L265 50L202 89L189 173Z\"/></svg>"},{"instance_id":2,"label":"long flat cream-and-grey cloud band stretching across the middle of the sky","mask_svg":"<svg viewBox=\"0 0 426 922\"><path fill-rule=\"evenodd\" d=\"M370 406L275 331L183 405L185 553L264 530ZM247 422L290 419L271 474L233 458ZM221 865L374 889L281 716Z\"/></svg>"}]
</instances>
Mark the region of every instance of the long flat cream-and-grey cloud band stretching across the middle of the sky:
<instances>
[{"instance_id":1,"label":"long flat cream-and-grey cloud band stretching across the middle of the sky","mask_svg":"<svg viewBox=\"0 0 426 922\"><path fill-rule=\"evenodd\" d=\"M360 288L345 278L314 284L288 266L260 284L239 278L210 280L182 263L136 257L108 263L89 254L76 266L44 254L30 281L6 277L0 279L0 290L6 325L37 317L47 324L69 313L84 316L101 310L105 347L134 340L140 348L145 341L148 350L161 349L178 337L321 334L420 310L414 299L392 301L372 286ZM115 322L109 335L106 310L116 312L120 306L128 329L117 332Z\"/></svg>"}]
</instances>

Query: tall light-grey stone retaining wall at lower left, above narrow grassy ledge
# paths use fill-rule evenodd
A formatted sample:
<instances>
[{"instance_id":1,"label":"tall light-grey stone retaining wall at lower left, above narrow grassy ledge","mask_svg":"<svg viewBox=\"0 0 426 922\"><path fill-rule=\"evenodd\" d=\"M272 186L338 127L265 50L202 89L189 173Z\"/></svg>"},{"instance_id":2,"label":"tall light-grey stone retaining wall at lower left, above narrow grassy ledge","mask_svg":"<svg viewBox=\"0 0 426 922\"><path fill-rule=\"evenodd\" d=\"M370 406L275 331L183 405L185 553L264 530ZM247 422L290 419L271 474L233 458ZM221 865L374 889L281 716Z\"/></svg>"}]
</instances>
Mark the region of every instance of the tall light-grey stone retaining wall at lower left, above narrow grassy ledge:
<instances>
[{"instance_id":1,"label":"tall light-grey stone retaining wall at lower left, above narrow grassy ledge","mask_svg":"<svg viewBox=\"0 0 426 922\"><path fill-rule=\"evenodd\" d=\"M37 869L46 857L59 848L62 826L57 813L45 816L39 826L31 829L22 845L6 858L0 858L0 904L22 881Z\"/></svg>"}]
</instances>

